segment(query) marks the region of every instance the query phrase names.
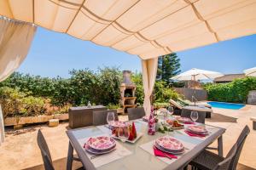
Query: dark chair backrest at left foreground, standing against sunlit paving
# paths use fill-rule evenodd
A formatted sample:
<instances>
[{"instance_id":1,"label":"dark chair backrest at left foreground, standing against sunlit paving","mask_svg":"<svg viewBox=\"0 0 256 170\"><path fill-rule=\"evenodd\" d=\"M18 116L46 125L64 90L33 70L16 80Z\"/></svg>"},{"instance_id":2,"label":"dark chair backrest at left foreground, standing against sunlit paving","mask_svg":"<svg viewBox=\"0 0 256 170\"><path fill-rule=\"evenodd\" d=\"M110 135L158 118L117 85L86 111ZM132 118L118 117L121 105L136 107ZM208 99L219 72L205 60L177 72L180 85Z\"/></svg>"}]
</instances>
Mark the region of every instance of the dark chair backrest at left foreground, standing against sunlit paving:
<instances>
[{"instance_id":1,"label":"dark chair backrest at left foreground, standing against sunlit paving","mask_svg":"<svg viewBox=\"0 0 256 170\"><path fill-rule=\"evenodd\" d=\"M53 167L53 164L52 164L48 145L47 145L47 143L44 139L44 135L40 129L38 130L38 146L41 150L41 155L43 157L44 169L45 170L54 170L55 168Z\"/></svg>"}]
</instances>

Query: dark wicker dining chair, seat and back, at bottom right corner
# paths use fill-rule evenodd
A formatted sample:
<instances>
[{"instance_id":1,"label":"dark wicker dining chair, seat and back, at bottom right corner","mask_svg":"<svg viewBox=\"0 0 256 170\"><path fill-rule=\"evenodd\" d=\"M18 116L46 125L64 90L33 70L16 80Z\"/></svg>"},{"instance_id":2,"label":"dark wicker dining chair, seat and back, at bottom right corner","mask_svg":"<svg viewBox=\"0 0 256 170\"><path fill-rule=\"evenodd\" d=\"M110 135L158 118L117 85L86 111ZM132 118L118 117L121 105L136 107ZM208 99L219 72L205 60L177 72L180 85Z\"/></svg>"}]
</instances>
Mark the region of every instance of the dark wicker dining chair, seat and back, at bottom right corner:
<instances>
[{"instance_id":1,"label":"dark wicker dining chair, seat and back, at bottom right corner","mask_svg":"<svg viewBox=\"0 0 256 170\"><path fill-rule=\"evenodd\" d=\"M248 126L244 127L241 131L238 139L236 140L236 153L235 156L232 157L230 161L230 165L228 168L229 170L236 170L236 166L239 160L239 157L241 155L241 150L243 147L243 144L245 143L245 140L247 138L247 135L250 133L250 129ZM230 152L228 156L230 155ZM192 167L199 167L199 169L212 169L209 167L213 167L214 164L217 164L220 161L224 161L224 157L218 156L217 154L214 154L208 150L204 150L199 156L197 156L193 161L191 161L189 164L192 165Z\"/></svg>"}]
</instances>

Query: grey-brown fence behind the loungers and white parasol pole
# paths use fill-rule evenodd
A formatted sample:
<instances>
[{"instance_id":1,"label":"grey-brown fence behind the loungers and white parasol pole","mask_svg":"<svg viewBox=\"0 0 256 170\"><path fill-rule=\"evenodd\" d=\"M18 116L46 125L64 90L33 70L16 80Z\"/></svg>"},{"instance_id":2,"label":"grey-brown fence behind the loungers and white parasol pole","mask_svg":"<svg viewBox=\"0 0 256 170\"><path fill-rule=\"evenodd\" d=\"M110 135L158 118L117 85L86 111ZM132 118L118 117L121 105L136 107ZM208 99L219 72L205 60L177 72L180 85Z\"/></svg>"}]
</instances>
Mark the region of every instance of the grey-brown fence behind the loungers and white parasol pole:
<instances>
[{"instance_id":1,"label":"grey-brown fence behind the loungers and white parasol pole","mask_svg":"<svg viewBox=\"0 0 256 170\"><path fill-rule=\"evenodd\" d=\"M192 96L195 93L195 98L198 101L207 100L207 91L204 89L193 88L174 88L178 94L182 94L186 99L192 101Z\"/></svg>"}]
</instances>

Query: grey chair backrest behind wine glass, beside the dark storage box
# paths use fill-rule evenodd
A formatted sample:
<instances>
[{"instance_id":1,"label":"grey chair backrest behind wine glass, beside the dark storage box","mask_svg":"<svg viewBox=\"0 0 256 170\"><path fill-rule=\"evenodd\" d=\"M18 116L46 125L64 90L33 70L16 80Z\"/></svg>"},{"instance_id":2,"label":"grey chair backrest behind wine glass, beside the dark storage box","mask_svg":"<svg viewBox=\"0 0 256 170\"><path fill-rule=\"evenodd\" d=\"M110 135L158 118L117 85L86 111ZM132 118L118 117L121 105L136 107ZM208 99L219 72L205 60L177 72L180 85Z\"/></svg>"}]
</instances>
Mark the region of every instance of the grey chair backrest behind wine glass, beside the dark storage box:
<instances>
[{"instance_id":1,"label":"grey chair backrest behind wine glass, beside the dark storage box","mask_svg":"<svg viewBox=\"0 0 256 170\"><path fill-rule=\"evenodd\" d=\"M94 126L98 125L105 125L108 124L107 122L107 116L108 112L113 112L114 114L114 120L118 121L119 116L116 110L108 110L108 111L93 111L93 116L92 116L92 122Z\"/></svg>"}]
</instances>

